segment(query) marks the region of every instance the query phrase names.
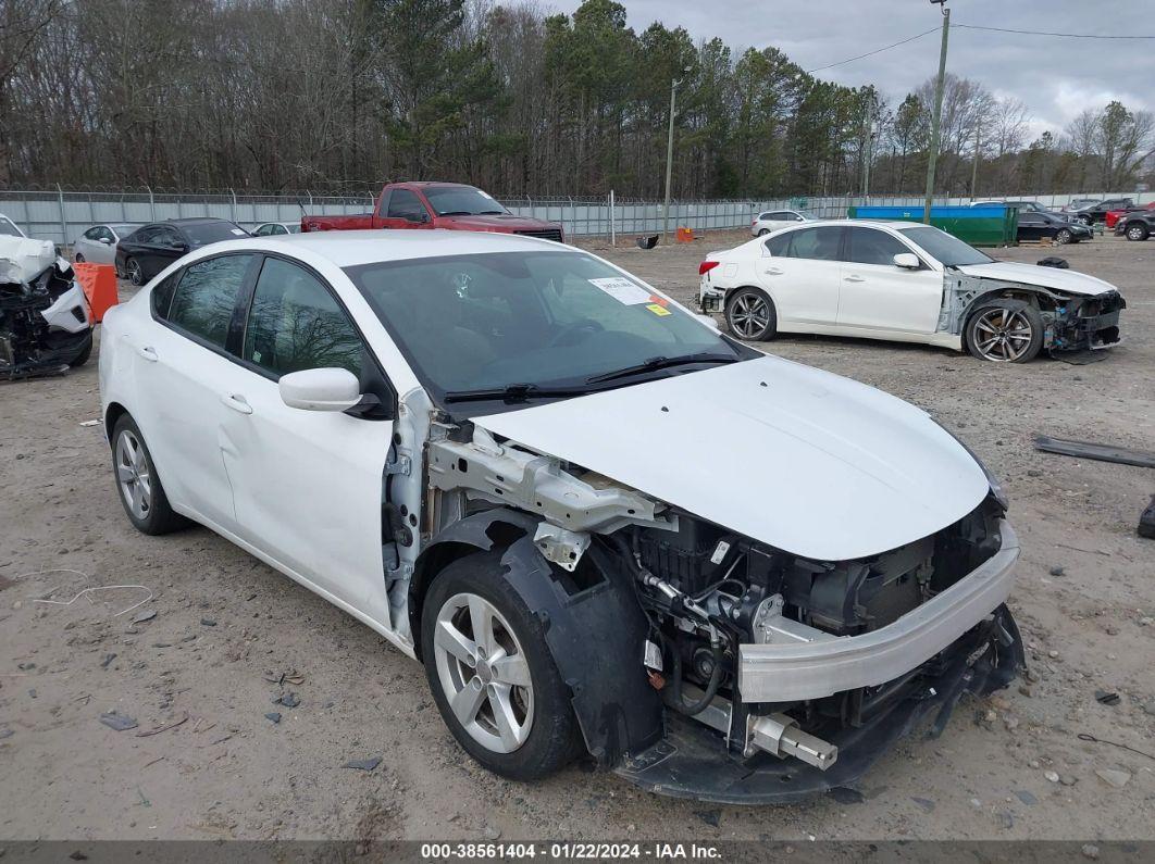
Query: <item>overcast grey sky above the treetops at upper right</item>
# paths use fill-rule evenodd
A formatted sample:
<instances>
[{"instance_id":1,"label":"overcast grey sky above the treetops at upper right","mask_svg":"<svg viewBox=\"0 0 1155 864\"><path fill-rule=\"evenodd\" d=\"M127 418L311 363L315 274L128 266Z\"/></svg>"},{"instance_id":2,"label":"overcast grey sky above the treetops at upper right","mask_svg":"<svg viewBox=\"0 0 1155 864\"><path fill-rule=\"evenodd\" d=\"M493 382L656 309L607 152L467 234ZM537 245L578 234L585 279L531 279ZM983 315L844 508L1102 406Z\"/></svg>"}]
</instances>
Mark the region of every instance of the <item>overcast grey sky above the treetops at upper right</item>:
<instances>
[{"instance_id":1,"label":"overcast grey sky above the treetops at upper right","mask_svg":"<svg viewBox=\"0 0 1155 864\"><path fill-rule=\"evenodd\" d=\"M941 21L929 0L619 0L629 27L681 25L695 42L722 37L735 57L748 46L775 46L806 70L899 42ZM553 0L572 13L580 0ZM966 30L977 24L1016 30L1098 35L1155 35L1155 2L1118 0L951 0L947 70L981 81L998 96L1021 99L1033 134L1061 130L1087 107L1118 99L1128 108L1155 107L1155 40L1072 39ZM875 84L897 104L938 70L939 36L851 63L817 72L841 84Z\"/></svg>"}]
</instances>

